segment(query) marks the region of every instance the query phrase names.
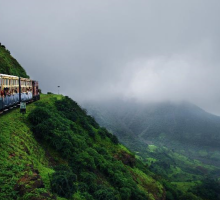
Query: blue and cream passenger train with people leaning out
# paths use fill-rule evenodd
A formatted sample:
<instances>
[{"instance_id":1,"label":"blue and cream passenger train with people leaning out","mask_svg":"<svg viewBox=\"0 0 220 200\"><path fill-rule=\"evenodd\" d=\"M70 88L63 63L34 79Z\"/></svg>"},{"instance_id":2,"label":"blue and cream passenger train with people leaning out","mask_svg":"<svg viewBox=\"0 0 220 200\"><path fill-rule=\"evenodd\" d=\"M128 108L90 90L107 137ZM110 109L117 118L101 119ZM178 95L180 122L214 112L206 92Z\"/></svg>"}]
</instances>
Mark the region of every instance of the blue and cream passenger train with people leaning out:
<instances>
[{"instance_id":1,"label":"blue and cream passenger train with people leaning out","mask_svg":"<svg viewBox=\"0 0 220 200\"><path fill-rule=\"evenodd\" d=\"M40 99L38 82L0 74L0 112L18 105L20 102L30 102Z\"/></svg>"}]
</instances>

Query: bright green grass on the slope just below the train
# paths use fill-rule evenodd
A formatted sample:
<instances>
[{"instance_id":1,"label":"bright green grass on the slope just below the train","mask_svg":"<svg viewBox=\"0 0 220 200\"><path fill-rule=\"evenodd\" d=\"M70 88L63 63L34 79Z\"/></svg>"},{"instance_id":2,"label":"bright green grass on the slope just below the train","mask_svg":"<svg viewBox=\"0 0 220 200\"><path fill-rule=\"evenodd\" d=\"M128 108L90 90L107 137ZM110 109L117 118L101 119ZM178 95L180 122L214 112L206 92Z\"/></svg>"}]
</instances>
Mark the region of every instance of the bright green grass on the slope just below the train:
<instances>
[{"instance_id":1,"label":"bright green grass on the slope just below the train","mask_svg":"<svg viewBox=\"0 0 220 200\"><path fill-rule=\"evenodd\" d=\"M48 96L42 95L41 99L46 102ZM54 170L28 126L27 115L33 108L35 103L27 106L25 115L20 114L19 109L13 109L0 116L0 199L16 196L14 185L22 176L32 173L32 165L39 170L46 189L50 188L48 174Z\"/></svg>"}]
</instances>

